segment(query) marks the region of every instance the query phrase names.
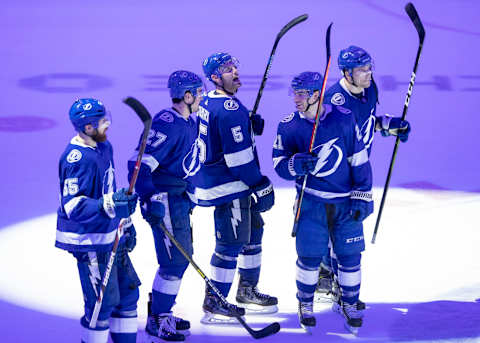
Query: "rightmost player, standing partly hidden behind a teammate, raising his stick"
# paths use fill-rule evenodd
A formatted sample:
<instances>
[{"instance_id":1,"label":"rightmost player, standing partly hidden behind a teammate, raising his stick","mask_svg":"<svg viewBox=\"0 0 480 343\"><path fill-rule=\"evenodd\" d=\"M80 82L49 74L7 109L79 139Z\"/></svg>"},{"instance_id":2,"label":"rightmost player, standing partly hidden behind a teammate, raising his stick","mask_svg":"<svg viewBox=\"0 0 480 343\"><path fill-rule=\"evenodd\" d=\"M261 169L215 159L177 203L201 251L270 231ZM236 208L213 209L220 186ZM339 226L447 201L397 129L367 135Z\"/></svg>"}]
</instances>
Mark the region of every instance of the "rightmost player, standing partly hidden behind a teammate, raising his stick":
<instances>
[{"instance_id":1,"label":"rightmost player, standing partly hidden behind a teammate, raising his stick","mask_svg":"<svg viewBox=\"0 0 480 343\"><path fill-rule=\"evenodd\" d=\"M326 91L324 103L352 111L369 155L375 131L380 131L382 136L398 135L401 142L406 142L410 133L408 121L376 114L378 89L373 80L372 57L364 49L352 45L340 51L338 67L343 77ZM324 258L317 292L332 292L335 265L335 256ZM359 301L358 307L364 309L365 304Z\"/></svg>"}]
</instances>

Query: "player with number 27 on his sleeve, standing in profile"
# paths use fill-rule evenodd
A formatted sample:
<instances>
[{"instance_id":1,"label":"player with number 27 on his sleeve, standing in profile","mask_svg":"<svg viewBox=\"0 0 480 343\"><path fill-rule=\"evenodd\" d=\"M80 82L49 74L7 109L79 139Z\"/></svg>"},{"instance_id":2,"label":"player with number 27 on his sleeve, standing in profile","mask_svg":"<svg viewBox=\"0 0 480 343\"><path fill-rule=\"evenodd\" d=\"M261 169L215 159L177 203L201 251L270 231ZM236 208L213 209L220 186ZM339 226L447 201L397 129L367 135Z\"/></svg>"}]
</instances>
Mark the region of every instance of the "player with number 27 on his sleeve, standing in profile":
<instances>
[{"instance_id":1,"label":"player with number 27 on his sleeve, standing in profile","mask_svg":"<svg viewBox=\"0 0 480 343\"><path fill-rule=\"evenodd\" d=\"M135 188L140 195L142 214L152 228L159 264L148 303L145 331L152 339L183 341L189 333L190 322L173 316L171 309L188 261L159 225L164 225L192 255L192 206L185 180L190 163L186 155L197 137L192 114L198 110L204 88L199 76L185 70L170 75L168 88L172 106L153 118ZM130 175L137 154L128 163Z\"/></svg>"}]
</instances>

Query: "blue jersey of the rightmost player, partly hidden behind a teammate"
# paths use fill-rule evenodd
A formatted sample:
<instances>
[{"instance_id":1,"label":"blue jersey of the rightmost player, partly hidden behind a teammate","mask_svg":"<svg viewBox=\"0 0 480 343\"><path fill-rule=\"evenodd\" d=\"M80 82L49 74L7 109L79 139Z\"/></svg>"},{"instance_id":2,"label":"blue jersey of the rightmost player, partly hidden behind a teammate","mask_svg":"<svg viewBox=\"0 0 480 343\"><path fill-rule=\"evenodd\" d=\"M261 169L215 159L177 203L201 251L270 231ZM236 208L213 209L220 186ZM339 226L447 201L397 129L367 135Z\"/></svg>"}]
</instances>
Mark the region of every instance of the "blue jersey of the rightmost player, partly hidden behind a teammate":
<instances>
[{"instance_id":1,"label":"blue jersey of the rightmost player, partly hidden behind a teammate","mask_svg":"<svg viewBox=\"0 0 480 343\"><path fill-rule=\"evenodd\" d=\"M350 93L345 86L345 80L340 79L325 92L324 104L342 106L353 112L357 125L362 134L363 143L370 155L373 134L375 133L375 121L378 95L373 81L369 88L360 96Z\"/></svg>"}]
</instances>

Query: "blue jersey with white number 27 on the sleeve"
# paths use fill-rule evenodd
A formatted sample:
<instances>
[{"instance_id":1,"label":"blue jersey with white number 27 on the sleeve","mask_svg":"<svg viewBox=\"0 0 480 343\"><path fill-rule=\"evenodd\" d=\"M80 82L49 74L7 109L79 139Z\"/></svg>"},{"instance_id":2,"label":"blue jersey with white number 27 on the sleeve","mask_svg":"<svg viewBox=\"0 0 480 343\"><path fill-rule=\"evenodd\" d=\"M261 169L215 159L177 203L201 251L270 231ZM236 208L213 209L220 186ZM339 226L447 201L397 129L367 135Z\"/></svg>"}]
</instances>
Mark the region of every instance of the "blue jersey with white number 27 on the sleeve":
<instances>
[{"instance_id":1,"label":"blue jersey with white number 27 on the sleeve","mask_svg":"<svg viewBox=\"0 0 480 343\"><path fill-rule=\"evenodd\" d=\"M197 124L192 116L185 119L173 108L154 116L135 186L141 198L158 192L182 194L187 190L186 176L194 168L189 152L196 138ZM129 177L135 167L138 148L128 162Z\"/></svg>"}]
</instances>

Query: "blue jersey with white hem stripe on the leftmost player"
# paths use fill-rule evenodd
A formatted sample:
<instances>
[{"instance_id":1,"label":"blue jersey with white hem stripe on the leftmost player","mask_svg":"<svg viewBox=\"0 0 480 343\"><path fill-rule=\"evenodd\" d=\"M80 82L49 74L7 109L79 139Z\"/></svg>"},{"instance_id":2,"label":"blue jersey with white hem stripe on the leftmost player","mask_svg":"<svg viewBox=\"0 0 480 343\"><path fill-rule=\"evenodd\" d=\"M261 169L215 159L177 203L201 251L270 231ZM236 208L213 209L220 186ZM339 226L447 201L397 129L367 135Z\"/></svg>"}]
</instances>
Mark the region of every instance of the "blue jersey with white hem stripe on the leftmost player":
<instances>
[{"instance_id":1,"label":"blue jersey with white hem stripe on the leftmost player","mask_svg":"<svg viewBox=\"0 0 480 343\"><path fill-rule=\"evenodd\" d=\"M74 137L60 157L58 173L61 204L55 246L68 251L111 250L120 219L108 217L98 202L116 191L111 144L106 141L93 148Z\"/></svg>"}]
</instances>

